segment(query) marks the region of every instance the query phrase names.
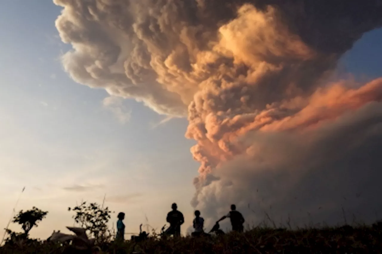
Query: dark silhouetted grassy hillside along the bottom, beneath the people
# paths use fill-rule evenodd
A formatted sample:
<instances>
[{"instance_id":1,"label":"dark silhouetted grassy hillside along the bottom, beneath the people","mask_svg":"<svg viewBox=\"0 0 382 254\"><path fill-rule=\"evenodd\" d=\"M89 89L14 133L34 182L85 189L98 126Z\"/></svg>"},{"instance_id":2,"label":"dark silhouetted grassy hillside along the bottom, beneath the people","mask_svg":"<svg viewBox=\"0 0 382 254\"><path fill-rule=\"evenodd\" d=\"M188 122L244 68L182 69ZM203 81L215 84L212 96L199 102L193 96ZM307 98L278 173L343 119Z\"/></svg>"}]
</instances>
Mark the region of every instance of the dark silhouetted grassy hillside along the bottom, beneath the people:
<instances>
[{"instance_id":1,"label":"dark silhouetted grassy hillside along the bottom, beneath the people","mask_svg":"<svg viewBox=\"0 0 382 254\"><path fill-rule=\"evenodd\" d=\"M212 238L150 238L134 246L108 243L92 253L382 253L382 222L372 226L342 226L321 229L254 228L243 234L228 233ZM75 253L52 244L31 241L23 246L4 246L0 253ZM85 253L85 252L78 252ZM88 252L89 253L89 252Z\"/></svg>"}]
</instances>

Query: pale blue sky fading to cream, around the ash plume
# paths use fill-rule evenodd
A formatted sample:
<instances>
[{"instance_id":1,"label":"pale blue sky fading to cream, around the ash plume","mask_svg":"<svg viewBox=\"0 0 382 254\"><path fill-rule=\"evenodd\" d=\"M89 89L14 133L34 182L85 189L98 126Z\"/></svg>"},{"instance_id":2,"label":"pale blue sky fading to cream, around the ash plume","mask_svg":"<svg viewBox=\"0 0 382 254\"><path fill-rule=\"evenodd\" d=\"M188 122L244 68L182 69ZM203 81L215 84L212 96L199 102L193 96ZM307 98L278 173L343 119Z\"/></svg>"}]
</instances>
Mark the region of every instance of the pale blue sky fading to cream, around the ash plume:
<instances>
[{"instance_id":1,"label":"pale blue sky fading to cream, around the ash plume","mask_svg":"<svg viewBox=\"0 0 382 254\"><path fill-rule=\"evenodd\" d=\"M70 45L58 37L59 14L50 1L0 2L2 228L23 186L16 210L49 210L32 230L42 238L71 225L68 206L102 202L105 193L110 209L126 212L127 231L137 231L144 214L161 227L172 202L188 226L199 165L189 152L194 141L184 137L186 119L154 128L165 116L125 100L122 113L131 116L121 123L102 104L107 92L77 84L63 71L59 57ZM365 34L343 56L341 70L358 79L380 76L380 45L382 29ZM70 191L78 186L86 190Z\"/></svg>"}]
</instances>

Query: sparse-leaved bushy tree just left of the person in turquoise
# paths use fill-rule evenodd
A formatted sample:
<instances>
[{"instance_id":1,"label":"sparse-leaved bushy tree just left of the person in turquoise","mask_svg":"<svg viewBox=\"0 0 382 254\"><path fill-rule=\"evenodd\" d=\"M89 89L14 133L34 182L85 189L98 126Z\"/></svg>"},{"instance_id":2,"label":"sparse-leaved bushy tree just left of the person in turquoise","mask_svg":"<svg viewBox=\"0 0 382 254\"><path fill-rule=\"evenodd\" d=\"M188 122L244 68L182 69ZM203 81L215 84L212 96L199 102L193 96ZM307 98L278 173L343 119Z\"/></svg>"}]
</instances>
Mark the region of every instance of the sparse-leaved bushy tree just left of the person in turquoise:
<instances>
[{"instance_id":1,"label":"sparse-leaved bushy tree just left of the person in turquoise","mask_svg":"<svg viewBox=\"0 0 382 254\"><path fill-rule=\"evenodd\" d=\"M103 208L97 203L87 204L85 201L73 208L69 207L68 210L76 213L73 215L74 221L86 229L89 236L94 237L96 242L111 238L107 223L114 212L110 211L108 207Z\"/></svg>"}]
</instances>

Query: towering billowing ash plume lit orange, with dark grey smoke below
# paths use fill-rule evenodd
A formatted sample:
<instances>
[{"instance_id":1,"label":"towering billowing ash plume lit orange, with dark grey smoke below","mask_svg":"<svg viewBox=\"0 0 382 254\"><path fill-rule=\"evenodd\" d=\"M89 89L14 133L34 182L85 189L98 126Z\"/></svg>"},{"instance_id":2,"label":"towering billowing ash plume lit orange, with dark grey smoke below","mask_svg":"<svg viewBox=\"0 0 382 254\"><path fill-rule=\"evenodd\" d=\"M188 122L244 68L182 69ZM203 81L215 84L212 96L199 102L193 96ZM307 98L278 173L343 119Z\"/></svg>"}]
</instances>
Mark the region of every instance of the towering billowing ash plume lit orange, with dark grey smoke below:
<instances>
[{"instance_id":1,"label":"towering billowing ash plume lit orange, with dark grey smoke below","mask_svg":"<svg viewBox=\"0 0 382 254\"><path fill-rule=\"evenodd\" d=\"M382 166L382 79L325 82L382 25L380 0L54 3L75 81L188 117L201 162L192 204L205 217L236 202L274 205L275 216L321 206L330 220L342 195L362 190L366 202L381 190L366 175Z\"/></svg>"}]
</instances>

